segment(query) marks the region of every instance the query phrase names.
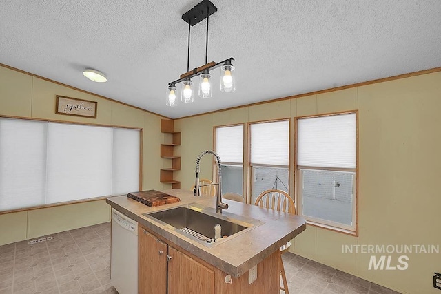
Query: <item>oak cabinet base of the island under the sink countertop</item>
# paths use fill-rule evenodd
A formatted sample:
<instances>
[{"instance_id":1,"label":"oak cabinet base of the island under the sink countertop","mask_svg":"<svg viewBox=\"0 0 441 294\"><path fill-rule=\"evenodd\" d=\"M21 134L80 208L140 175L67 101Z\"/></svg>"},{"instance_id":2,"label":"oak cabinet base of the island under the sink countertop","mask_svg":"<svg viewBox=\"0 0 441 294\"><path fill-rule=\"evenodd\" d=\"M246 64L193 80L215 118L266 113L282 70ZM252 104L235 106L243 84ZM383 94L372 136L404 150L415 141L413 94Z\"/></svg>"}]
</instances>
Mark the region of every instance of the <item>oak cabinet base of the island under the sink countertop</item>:
<instances>
[{"instance_id":1,"label":"oak cabinet base of the island under the sink countertop","mask_svg":"<svg viewBox=\"0 0 441 294\"><path fill-rule=\"evenodd\" d=\"M138 293L276 294L278 254L275 251L257 265L257 280L252 284L248 273L227 284L226 273L139 225Z\"/></svg>"}]
</instances>

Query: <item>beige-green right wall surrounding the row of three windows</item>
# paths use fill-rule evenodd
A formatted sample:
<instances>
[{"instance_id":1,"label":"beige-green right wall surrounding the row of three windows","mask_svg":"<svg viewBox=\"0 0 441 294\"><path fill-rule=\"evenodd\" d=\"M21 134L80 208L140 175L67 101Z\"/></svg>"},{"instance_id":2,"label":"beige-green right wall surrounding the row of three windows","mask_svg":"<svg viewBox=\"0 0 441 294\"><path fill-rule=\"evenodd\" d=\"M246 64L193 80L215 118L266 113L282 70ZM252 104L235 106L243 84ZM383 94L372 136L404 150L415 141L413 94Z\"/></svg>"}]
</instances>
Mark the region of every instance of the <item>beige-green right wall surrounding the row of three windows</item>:
<instances>
[{"instance_id":1,"label":"beige-green right wall surrounding the row of three windows","mask_svg":"<svg viewBox=\"0 0 441 294\"><path fill-rule=\"evenodd\" d=\"M294 252L402 293L438 293L432 277L441 271L440 254L408 254L405 271L369 270L371 254L342 253L342 245L441 246L441 72L178 119L175 129L182 132L183 144L177 149L182 158L177 178L183 188L193 185L196 156L213 148L214 126L277 118L291 118L294 125L296 116L354 109L359 120L358 238L308 226L295 238ZM291 138L291 159L293 154ZM211 158L201 162L204 177L212 177L211 163ZM391 266L399 255L392 255Z\"/></svg>"}]
</instances>

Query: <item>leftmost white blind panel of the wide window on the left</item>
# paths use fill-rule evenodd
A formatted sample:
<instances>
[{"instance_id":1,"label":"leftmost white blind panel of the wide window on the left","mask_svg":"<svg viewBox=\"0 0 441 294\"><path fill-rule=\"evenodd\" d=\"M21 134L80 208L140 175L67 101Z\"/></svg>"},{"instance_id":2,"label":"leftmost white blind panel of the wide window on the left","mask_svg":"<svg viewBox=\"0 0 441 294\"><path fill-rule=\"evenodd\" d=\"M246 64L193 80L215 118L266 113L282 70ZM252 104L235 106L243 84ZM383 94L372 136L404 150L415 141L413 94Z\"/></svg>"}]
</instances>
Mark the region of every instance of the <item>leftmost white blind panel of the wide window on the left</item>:
<instances>
[{"instance_id":1,"label":"leftmost white blind panel of the wide window on the left","mask_svg":"<svg viewBox=\"0 0 441 294\"><path fill-rule=\"evenodd\" d=\"M44 204L46 127L0 118L0 211Z\"/></svg>"}]
</instances>

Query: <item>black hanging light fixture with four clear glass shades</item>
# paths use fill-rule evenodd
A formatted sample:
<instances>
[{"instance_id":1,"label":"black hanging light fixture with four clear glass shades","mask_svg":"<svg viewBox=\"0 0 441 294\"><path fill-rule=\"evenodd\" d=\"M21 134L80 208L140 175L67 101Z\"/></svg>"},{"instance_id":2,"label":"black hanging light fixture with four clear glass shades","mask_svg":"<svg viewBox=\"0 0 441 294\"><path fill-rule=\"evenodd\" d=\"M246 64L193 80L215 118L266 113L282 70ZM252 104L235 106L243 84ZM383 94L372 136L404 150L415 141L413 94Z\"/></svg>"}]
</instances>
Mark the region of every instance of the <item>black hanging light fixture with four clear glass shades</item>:
<instances>
[{"instance_id":1,"label":"black hanging light fixture with four clear glass shades","mask_svg":"<svg viewBox=\"0 0 441 294\"><path fill-rule=\"evenodd\" d=\"M192 89L192 78L199 76L199 90L198 94L201 98L211 98L213 96L212 87L212 75L209 73L210 70L214 70L217 67L222 69L222 77L220 78L220 91L222 92L234 92L236 90L236 79L234 78L234 66L232 61L233 57L220 61L218 63L212 61L207 63L207 53L208 53L208 19L209 16L218 11L218 8L214 6L209 0L203 0L194 8L188 10L183 14L182 19L188 23L188 48L187 48L187 72L181 74L181 76L176 80L168 83L167 87L167 97L166 105L176 106L176 84L183 83L181 90L181 101L184 103L191 103L194 101L193 89ZM207 19L207 36L205 39L205 65L196 67L193 70L189 70L189 59L190 59L190 30L193 25L200 23L204 19Z\"/></svg>"}]
</instances>

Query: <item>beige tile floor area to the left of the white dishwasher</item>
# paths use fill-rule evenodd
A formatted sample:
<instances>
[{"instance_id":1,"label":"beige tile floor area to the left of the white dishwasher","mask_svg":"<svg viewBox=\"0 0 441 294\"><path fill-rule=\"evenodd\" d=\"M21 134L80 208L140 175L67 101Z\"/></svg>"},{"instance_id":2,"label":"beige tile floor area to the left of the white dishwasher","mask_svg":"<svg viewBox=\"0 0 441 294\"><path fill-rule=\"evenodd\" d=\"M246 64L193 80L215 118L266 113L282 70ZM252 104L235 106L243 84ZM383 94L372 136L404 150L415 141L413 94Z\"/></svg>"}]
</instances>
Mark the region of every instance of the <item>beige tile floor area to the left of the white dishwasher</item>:
<instances>
[{"instance_id":1,"label":"beige tile floor area to the left of the white dishwasher","mask_svg":"<svg viewBox=\"0 0 441 294\"><path fill-rule=\"evenodd\" d=\"M0 294L117 293L110 285L110 222L0 246Z\"/></svg>"}]
</instances>

